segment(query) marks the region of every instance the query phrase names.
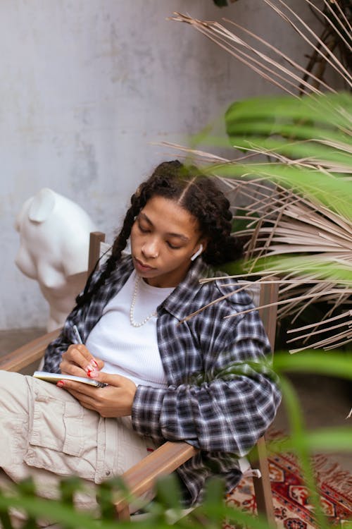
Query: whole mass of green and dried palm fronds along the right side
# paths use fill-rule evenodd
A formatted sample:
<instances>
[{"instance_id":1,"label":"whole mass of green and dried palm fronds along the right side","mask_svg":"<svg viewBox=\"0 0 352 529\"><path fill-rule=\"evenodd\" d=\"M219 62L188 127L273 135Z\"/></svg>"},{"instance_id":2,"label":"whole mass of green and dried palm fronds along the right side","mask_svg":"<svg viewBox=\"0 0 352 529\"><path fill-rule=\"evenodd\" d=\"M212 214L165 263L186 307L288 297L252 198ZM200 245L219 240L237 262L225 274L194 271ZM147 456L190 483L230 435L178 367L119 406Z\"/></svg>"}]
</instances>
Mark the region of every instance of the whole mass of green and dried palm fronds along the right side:
<instances>
[{"instance_id":1,"label":"whole mass of green and dried palm fronds along the right side","mask_svg":"<svg viewBox=\"0 0 352 529\"><path fill-rule=\"evenodd\" d=\"M322 0L319 9L306 0L325 23L320 37L283 0L263 1L324 62L320 75L313 73L312 61L304 68L231 20L224 19L225 27L175 13L173 20L188 23L289 97L232 104L225 120L232 147L241 150L235 159L173 147L206 164L234 195L242 224L236 233L247 241L247 274L260 271L261 281L279 276L279 317L290 316L294 325L317 303L325 307L319 320L290 329L301 341L296 350L332 348L352 341L352 98L336 92L322 72L329 64L352 87L348 61L334 54L337 41L351 54L350 8L344 1ZM327 35L334 35L334 44ZM256 162L258 154L269 161Z\"/></svg>"}]
</instances>

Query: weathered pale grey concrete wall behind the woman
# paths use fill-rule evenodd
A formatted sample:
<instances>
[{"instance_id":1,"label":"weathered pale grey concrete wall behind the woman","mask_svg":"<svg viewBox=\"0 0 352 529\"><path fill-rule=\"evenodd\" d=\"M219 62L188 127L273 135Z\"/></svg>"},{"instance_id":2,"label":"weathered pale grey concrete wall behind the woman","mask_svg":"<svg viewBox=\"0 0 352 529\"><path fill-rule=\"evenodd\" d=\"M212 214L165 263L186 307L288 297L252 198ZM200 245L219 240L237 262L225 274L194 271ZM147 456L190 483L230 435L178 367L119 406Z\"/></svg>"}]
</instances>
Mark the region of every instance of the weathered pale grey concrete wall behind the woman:
<instances>
[{"instance_id":1,"label":"weathered pale grey concrete wall behind the woman","mask_svg":"<svg viewBox=\"0 0 352 529\"><path fill-rule=\"evenodd\" d=\"M313 20L304 0L291 0ZM112 233L130 194L234 99L273 92L173 11L232 18L301 59L306 47L263 0L2 0L0 329L42 326L47 306L14 265L15 215L49 187Z\"/></svg>"}]
</instances>

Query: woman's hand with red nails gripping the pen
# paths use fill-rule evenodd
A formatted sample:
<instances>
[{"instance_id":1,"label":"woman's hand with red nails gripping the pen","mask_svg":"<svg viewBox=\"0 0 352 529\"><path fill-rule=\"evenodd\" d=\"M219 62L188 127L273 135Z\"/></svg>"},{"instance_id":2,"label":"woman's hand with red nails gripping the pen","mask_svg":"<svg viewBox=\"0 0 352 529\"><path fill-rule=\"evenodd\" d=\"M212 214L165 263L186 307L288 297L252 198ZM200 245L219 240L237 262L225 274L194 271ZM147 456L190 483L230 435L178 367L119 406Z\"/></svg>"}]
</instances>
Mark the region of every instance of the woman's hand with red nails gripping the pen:
<instances>
[{"instance_id":1,"label":"woman's hand with red nails gripping the pen","mask_svg":"<svg viewBox=\"0 0 352 529\"><path fill-rule=\"evenodd\" d=\"M94 358L86 346L73 343L62 355L60 370L65 375L88 378L91 372L100 371L103 365L103 360Z\"/></svg>"}]
</instances>

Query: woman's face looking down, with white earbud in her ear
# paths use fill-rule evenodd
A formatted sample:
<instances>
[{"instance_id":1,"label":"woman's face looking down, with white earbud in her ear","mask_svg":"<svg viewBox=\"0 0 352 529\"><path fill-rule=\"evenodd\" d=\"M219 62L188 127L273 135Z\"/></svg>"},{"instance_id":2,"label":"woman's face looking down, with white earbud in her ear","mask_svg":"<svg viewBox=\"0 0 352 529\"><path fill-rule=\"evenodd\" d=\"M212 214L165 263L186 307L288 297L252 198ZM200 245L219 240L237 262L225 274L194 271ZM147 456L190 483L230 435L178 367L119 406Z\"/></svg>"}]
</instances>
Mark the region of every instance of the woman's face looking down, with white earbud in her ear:
<instances>
[{"instance_id":1,"label":"woman's face looking down, with white earbud in her ear","mask_svg":"<svg viewBox=\"0 0 352 529\"><path fill-rule=\"evenodd\" d=\"M200 243L205 247L193 215L174 200L152 197L132 226L134 269L152 286L177 286Z\"/></svg>"}]
</instances>

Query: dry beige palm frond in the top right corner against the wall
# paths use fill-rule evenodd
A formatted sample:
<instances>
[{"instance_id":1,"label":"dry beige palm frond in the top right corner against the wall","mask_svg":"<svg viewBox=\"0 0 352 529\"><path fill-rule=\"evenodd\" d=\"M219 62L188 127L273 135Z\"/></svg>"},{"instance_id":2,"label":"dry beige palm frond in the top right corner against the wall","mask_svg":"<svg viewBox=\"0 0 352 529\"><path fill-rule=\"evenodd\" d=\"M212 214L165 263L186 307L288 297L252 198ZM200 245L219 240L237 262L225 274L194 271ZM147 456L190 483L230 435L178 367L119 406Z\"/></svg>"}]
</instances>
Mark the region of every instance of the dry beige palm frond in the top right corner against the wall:
<instances>
[{"instance_id":1,"label":"dry beige palm frond in the top right corner against the wall","mask_svg":"<svg viewBox=\"0 0 352 529\"><path fill-rule=\"evenodd\" d=\"M291 25L297 34L309 44L314 51L316 61L319 59L324 64L328 63L337 75L344 79L346 85L352 87L352 76L348 68L344 66L344 63L339 61L337 55L325 44L325 40L314 32L303 18L298 16L298 13L282 0L277 0L276 4L271 0L263 1L279 17ZM344 10L338 1L323 0L325 7L320 9L310 0L306 0L306 3L325 21L329 29L329 35L337 35L339 42L346 47L346 54L351 54L351 25L345 14L348 6ZM253 71L289 95L298 97L302 93L313 92L320 94L322 92L319 87L322 87L323 90L335 92L332 86L322 80L322 77L317 77L313 74L312 68L304 68L297 61L291 59L290 56L284 54L281 49L273 46L270 42L265 41L265 39L258 37L258 35L248 29L243 28L233 20L223 18L225 23L236 28L237 33L232 32L225 25L218 22L198 20L182 13L174 13L172 20L190 24L193 28L203 33L203 35L206 35L208 39L232 54L238 61L246 64L246 66L249 66ZM241 34L244 34L245 37L241 37ZM253 45L246 41L246 37L251 37L251 39L258 41L260 47L253 47ZM265 53L263 49L268 49L268 53Z\"/></svg>"}]
</instances>

